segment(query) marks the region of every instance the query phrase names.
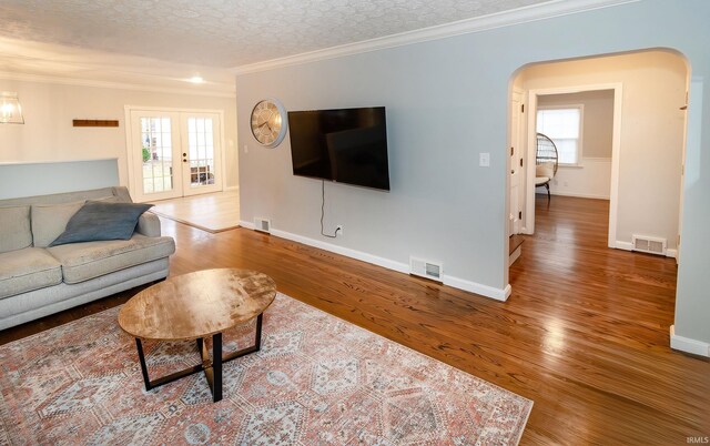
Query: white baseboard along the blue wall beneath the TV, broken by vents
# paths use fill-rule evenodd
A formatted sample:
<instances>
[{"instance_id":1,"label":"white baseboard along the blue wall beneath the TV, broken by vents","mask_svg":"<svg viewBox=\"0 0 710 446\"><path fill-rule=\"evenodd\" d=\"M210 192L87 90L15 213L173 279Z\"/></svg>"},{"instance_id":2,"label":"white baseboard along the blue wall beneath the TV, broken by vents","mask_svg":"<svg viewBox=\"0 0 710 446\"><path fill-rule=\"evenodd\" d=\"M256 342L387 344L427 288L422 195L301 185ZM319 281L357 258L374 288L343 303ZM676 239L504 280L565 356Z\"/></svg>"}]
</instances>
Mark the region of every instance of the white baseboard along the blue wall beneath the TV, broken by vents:
<instances>
[{"instance_id":1,"label":"white baseboard along the blue wall beneath the TV, broken by vents","mask_svg":"<svg viewBox=\"0 0 710 446\"><path fill-rule=\"evenodd\" d=\"M241 221L240 225L242 227L250 229L250 230L254 229L253 222ZM321 240L314 240L310 237L304 237L303 235L293 234L286 231L275 230L273 226L271 229L271 234L281 239L291 240L294 242L303 243L304 245L317 247L324 251L329 251L335 254L341 254L346 257L372 263L373 265L386 267L387 270L396 271L398 273L409 274L409 264L407 263L395 262L389 259L379 257L377 255L352 250L349 247L338 246L333 243L327 243ZM483 285L480 283L467 281L464 278L454 277L446 274L444 274L442 278L443 278L444 285L452 286L458 290L464 290L475 294L480 294L481 296L495 298L496 301L501 301L501 302L505 302L511 292L509 284L501 290L501 288L496 288L488 285Z\"/></svg>"}]
</instances>

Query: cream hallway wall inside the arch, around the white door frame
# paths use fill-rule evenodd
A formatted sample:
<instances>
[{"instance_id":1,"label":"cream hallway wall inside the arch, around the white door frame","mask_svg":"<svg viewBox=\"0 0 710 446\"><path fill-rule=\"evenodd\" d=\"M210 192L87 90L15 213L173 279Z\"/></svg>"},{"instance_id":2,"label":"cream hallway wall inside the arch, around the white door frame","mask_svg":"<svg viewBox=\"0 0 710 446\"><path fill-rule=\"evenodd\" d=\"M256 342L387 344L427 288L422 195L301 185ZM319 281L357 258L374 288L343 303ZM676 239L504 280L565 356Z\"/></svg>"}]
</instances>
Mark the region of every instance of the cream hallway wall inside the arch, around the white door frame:
<instances>
[{"instance_id":1,"label":"cream hallway wall inside the arch, around the white door frame","mask_svg":"<svg viewBox=\"0 0 710 446\"><path fill-rule=\"evenodd\" d=\"M688 80L684 60L669 51L643 51L531 65L521 75L527 90L622 84L617 242L628 245L632 234L649 235L667 239L674 250L684 126L680 105ZM601 185L608 178L607 171L601 172L606 164L586 164L590 174L600 171L589 182ZM569 171L558 171L556 187L569 184L574 175Z\"/></svg>"}]
</instances>

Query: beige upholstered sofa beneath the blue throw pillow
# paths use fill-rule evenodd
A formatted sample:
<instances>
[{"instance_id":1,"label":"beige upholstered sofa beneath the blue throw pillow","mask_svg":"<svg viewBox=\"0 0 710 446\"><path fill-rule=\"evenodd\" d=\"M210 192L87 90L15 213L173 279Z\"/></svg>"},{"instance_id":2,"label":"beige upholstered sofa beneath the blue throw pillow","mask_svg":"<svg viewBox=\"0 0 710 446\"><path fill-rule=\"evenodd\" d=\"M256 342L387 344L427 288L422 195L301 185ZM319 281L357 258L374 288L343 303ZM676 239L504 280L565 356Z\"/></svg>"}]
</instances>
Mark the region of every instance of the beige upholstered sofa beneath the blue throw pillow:
<instances>
[{"instance_id":1,"label":"beige upholstered sofa beneath the blue throw pillow","mask_svg":"<svg viewBox=\"0 0 710 446\"><path fill-rule=\"evenodd\" d=\"M105 187L0 200L0 330L168 276L175 242L150 212L130 240L49 246L87 200L131 196Z\"/></svg>"}]
</instances>

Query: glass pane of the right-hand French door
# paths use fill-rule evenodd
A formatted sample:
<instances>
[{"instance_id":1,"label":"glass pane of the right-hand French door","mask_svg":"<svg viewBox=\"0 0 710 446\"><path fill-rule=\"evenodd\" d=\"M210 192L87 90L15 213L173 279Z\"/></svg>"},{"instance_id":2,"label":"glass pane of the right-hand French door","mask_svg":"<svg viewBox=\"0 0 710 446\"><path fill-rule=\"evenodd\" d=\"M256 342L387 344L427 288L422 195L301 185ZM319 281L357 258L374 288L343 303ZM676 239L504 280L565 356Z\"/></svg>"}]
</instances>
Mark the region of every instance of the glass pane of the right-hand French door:
<instances>
[{"instance_id":1,"label":"glass pane of the right-hand French door","mask_svg":"<svg viewBox=\"0 0 710 446\"><path fill-rule=\"evenodd\" d=\"M214 184L214 135L211 118L187 118L190 186Z\"/></svg>"}]
</instances>

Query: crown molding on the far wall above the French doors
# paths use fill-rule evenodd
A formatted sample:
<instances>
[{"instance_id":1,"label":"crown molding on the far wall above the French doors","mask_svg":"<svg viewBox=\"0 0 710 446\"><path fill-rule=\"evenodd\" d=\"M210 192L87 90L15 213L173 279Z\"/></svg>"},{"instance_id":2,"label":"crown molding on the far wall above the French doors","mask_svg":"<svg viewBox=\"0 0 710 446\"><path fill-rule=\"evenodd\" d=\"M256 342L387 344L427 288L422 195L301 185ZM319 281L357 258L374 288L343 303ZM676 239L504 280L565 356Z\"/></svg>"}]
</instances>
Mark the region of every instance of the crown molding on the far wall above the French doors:
<instances>
[{"instance_id":1,"label":"crown molding on the far wall above the French doors","mask_svg":"<svg viewBox=\"0 0 710 446\"><path fill-rule=\"evenodd\" d=\"M178 87L155 87L146 83L110 82L110 81L98 81L98 80L80 79L80 78L62 78L57 75L30 74L30 73L21 73L21 72L0 71L0 79L22 81L22 82L54 83L54 84L61 84L61 85L93 87L93 88L100 88L100 89L118 89L118 90L148 91L148 92L155 92L155 93L187 94L187 95L210 97L210 98L234 99L236 97L236 91L230 91L230 92L201 91L201 90L190 89L190 88L182 89Z\"/></svg>"}]
</instances>

